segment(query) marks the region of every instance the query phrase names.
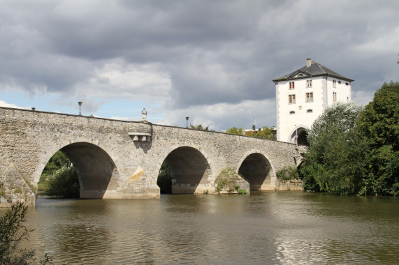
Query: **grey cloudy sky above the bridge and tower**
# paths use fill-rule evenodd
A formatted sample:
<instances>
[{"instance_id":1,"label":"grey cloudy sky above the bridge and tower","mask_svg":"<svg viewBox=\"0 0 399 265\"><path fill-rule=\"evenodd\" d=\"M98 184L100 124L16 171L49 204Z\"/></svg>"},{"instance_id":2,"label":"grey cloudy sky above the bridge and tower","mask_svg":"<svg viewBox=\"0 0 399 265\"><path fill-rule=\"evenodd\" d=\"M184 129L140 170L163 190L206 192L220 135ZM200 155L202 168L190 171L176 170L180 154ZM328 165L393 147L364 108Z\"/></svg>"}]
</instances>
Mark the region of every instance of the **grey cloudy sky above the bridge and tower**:
<instances>
[{"instance_id":1,"label":"grey cloudy sky above the bridge and tower","mask_svg":"<svg viewBox=\"0 0 399 265\"><path fill-rule=\"evenodd\" d=\"M275 126L274 78L312 58L366 104L399 77L399 1L0 0L0 105Z\"/></svg>"}]
</instances>

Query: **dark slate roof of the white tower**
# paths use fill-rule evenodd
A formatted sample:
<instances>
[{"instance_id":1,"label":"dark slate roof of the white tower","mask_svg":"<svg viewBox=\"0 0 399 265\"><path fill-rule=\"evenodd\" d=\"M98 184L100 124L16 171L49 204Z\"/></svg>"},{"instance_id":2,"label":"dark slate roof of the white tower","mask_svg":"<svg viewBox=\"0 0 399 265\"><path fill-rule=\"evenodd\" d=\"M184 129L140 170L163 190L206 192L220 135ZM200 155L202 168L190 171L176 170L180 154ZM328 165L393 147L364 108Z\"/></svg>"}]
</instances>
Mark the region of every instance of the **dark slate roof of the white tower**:
<instances>
[{"instance_id":1,"label":"dark slate roof of the white tower","mask_svg":"<svg viewBox=\"0 0 399 265\"><path fill-rule=\"evenodd\" d=\"M336 77L338 79L343 79L343 80L346 80L349 82L354 81L354 79L344 77L343 75L335 73L333 70L330 70L330 69L322 66L320 63L313 61L310 64L310 67L303 66L303 68L300 68L288 75L284 75L282 77L273 79L273 82L291 80L291 79L318 77L318 76L324 76L324 75L329 76L329 77Z\"/></svg>"}]
</instances>

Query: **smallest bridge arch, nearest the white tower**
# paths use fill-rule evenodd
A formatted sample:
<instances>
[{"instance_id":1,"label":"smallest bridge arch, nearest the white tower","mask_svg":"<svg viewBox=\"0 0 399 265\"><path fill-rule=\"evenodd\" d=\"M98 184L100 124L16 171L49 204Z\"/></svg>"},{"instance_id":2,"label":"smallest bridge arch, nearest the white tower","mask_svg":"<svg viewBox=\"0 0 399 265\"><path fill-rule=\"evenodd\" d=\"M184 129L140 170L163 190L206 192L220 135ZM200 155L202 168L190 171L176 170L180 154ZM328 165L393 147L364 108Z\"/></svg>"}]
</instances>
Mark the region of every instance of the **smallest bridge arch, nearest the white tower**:
<instances>
[{"instance_id":1,"label":"smallest bridge arch, nearest the white tower","mask_svg":"<svg viewBox=\"0 0 399 265\"><path fill-rule=\"evenodd\" d=\"M238 164L238 174L248 181L250 190L274 190L275 169L262 151L245 153Z\"/></svg>"}]
</instances>

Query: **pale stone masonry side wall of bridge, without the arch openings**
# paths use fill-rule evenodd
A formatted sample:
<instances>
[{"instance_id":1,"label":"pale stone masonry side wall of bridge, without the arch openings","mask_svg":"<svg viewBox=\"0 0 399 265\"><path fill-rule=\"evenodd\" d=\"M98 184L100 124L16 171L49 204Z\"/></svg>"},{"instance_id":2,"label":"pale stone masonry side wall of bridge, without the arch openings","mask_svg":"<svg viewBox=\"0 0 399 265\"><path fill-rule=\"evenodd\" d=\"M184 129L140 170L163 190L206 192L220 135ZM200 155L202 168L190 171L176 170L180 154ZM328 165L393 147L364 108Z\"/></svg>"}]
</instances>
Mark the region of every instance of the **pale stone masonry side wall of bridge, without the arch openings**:
<instances>
[{"instance_id":1,"label":"pale stone masonry side wall of bridge, without the arch openings","mask_svg":"<svg viewBox=\"0 0 399 265\"><path fill-rule=\"evenodd\" d=\"M110 165L115 167L110 169L112 181L108 179L113 188L104 190L104 198L159 198L159 168L169 153L182 146L198 150L208 161L210 174L206 185L213 185L222 169L231 167L238 172L247 156L260 153L270 163L273 190L275 172L300 161L296 146L285 142L147 122L0 107L0 175L13 166L34 189L54 153L65 146L78 149L78 143L89 144L94 151L105 151ZM78 152L72 147L71 152Z\"/></svg>"}]
</instances>

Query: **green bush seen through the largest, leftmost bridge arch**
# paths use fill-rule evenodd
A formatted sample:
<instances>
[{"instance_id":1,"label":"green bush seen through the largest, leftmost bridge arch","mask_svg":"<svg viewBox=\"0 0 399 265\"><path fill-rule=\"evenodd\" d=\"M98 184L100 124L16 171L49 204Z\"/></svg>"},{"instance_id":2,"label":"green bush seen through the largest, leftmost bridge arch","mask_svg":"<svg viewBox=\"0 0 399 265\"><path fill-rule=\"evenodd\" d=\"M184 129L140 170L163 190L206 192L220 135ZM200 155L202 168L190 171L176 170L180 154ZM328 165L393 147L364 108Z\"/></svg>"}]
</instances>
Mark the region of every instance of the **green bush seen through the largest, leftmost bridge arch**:
<instances>
[{"instance_id":1,"label":"green bush seen through the largest, leftmost bridge arch","mask_svg":"<svg viewBox=\"0 0 399 265\"><path fill-rule=\"evenodd\" d=\"M63 198L79 197L79 179L75 167L63 166L48 177L46 194Z\"/></svg>"}]
</instances>

